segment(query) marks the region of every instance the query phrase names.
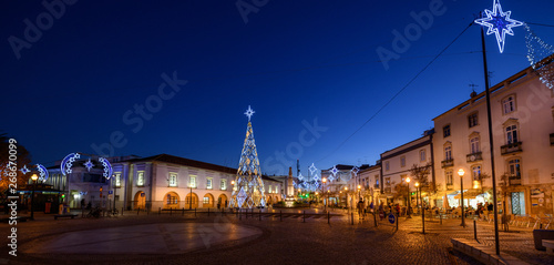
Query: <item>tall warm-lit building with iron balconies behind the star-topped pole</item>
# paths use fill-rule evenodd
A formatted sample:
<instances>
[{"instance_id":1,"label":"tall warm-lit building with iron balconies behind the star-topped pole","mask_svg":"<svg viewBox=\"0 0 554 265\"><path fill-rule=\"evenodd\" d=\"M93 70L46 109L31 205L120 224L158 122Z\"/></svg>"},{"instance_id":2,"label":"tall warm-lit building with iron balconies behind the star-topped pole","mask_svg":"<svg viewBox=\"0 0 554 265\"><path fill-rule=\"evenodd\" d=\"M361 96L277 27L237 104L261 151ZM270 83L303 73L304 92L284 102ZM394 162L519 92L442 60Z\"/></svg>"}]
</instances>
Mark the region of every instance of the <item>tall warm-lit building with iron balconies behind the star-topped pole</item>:
<instances>
[{"instance_id":1,"label":"tall warm-lit building with iron balconies behind the star-topped pole","mask_svg":"<svg viewBox=\"0 0 554 265\"><path fill-rule=\"evenodd\" d=\"M492 86L491 115L497 183L507 183L507 213L552 214L554 92L532 68ZM438 190L456 206L460 183L469 205L492 202L491 152L485 92L433 119ZM465 175L460 180L456 172ZM499 198L502 200L502 198Z\"/></svg>"}]
</instances>

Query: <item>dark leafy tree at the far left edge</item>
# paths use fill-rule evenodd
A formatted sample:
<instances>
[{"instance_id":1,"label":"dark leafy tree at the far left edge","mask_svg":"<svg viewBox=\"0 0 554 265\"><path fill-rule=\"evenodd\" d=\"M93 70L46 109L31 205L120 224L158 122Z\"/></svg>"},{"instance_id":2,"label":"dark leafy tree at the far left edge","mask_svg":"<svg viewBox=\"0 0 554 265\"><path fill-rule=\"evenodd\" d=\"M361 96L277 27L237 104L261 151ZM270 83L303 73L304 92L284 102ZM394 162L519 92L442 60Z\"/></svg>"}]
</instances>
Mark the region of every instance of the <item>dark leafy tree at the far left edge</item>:
<instances>
[{"instance_id":1,"label":"dark leafy tree at the far left edge","mask_svg":"<svg viewBox=\"0 0 554 265\"><path fill-rule=\"evenodd\" d=\"M8 169L8 163L10 162L10 150L17 150L17 160L12 161L17 164L11 164L11 169ZM16 190L20 188L29 181L29 174L23 175L20 169L22 169L23 165L28 165L29 163L31 163L31 155L29 154L29 151L27 151L23 145L17 142L17 140L16 142L10 143L10 137L7 136L6 133L0 134L0 201L2 203L6 202L8 188L10 187L10 184L12 184L8 174L12 172L11 170L16 170L17 186L14 187Z\"/></svg>"}]
</instances>

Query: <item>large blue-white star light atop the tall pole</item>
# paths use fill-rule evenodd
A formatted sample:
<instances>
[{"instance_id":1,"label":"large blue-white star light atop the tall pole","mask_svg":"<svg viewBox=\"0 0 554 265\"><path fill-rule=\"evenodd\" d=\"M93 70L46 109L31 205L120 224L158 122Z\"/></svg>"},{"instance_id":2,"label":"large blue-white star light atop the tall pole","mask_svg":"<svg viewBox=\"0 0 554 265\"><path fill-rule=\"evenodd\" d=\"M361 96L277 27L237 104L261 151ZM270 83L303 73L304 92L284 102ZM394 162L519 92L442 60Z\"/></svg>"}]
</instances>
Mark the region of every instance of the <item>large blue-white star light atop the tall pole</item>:
<instances>
[{"instance_id":1,"label":"large blue-white star light atop the tall pole","mask_svg":"<svg viewBox=\"0 0 554 265\"><path fill-rule=\"evenodd\" d=\"M476 19L475 23L489 27L486 34L494 33L499 43L500 53L504 52L506 33L514 35L512 28L523 26L523 22L510 18L512 11L502 11L499 0L493 0L493 9L485 9L486 18Z\"/></svg>"}]
</instances>

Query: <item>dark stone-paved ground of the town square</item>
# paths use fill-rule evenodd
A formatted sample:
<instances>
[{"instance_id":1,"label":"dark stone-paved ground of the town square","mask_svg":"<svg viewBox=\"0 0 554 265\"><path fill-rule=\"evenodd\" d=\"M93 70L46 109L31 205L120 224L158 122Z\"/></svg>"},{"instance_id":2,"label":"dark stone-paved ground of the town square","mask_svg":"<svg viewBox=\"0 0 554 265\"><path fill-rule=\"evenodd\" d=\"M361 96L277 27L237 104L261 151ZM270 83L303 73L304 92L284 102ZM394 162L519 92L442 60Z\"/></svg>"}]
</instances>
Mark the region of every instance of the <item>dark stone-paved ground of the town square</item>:
<instances>
[{"instance_id":1,"label":"dark stone-paved ground of the town square","mask_svg":"<svg viewBox=\"0 0 554 265\"><path fill-rule=\"evenodd\" d=\"M463 255L449 256L450 238L473 238L472 227L462 228L456 220L444 221L443 225L428 222L428 234L422 235L418 217L400 218L400 230L393 232L391 226L376 228L372 220L359 221L356 216L351 225L349 214L338 213L345 215L334 216L330 224L321 216L302 223L299 214L283 222L278 215L263 221L256 215L243 216L238 221L234 215L194 218L189 214L38 220L18 225L19 256L10 259L10 264L451 264L451 258L458 264L479 264ZM492 226L480 222L478 227L480 239L493 244ZM0 231L7 228L0 225ZM502 251L531 264L553 262L552 256L534 249L530 234L529 231L501 234ZM89 249L93 242L81 237L90 236L116 238L121 243L115 247L117 253L95 254L107 246ZM191 245L187 242L192 238L195 243ZM85 244L88 249L69 251L75 243ZM163 254L153 254L156 252Z\"/></svg>"}]
</instances>

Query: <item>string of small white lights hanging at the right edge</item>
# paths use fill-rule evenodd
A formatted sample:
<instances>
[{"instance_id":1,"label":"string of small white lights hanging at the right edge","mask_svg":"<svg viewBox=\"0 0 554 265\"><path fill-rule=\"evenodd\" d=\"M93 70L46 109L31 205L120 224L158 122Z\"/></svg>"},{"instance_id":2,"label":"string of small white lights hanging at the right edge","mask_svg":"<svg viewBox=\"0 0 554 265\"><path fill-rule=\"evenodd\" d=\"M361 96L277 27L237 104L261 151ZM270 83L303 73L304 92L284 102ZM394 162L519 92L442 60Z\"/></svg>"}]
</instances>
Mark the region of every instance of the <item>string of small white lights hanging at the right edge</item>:
<instances>
[{"instance_id":1,"label":"string of small white lights hanging at the right edge","mask_svg":"<svg viewBox=\"0 0 554 265\"><path fill-rule=\"evenodd\" d=\"M551 60L545 59L554 53L554 47L538 38L535 32L531 30L529 24L525 24L525 30L527 31L525 34L527 60L531 63L531 67L538 74L541 82L543 82L548 89L553 89L554 63L552 63L552 61L554 58L551 58Z\"/></svg>"}]
</instances>

